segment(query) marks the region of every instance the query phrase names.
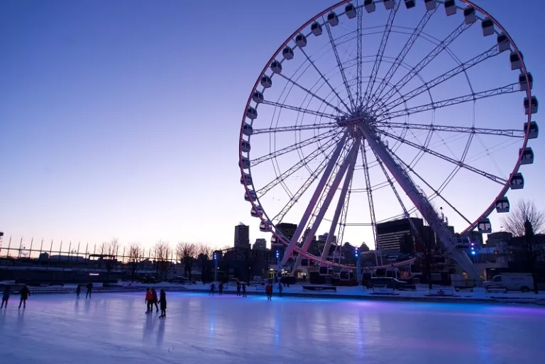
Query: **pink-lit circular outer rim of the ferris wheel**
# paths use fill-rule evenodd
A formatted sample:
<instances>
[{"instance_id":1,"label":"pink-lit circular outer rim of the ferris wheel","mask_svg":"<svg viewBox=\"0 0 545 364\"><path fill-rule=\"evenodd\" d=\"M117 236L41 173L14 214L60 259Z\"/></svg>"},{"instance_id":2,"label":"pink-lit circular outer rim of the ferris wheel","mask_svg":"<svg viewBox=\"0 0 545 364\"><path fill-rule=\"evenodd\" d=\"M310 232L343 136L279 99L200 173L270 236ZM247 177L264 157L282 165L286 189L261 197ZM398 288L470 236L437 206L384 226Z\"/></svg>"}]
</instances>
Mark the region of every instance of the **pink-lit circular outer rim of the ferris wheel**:
<instances>
[{"instance_id":1,"label":"pink-lit circular outer rim of the ferris wheel","mask_svg":"<svg viewBox=\"0 0 545 364\"><path fill-rule=\"evenodd\" d=\"M395 0L395 1L402 1L402 0ZM480 6L474 4L473 1L470 1L470 0L458 0L458 1L460 1L463 4L466 4L466 6L473 7L475 9L475 11L478 11L479 13L481 13L483 16L485 16L485 18L490 19L490 21L492 21L492 23L494 23L494 25L497 27L497 30L500 31L500 33L502 33L503 35L505 35L507 37L507 40L510 43L510 46L512 47L512 53L517 53L518 55L522 55L522 53L520 52L520 50L517 47L516 43L514 43L514 40L512 39L511 35L505 30L505 28L501 25L501 23L499 21L497 21L496 18L494 18L492 15L490 15L490 13L485 11ZM375 0L373 2L376 4L376 3L383 2L383 1L382 0ZM444 3L445 1L444 0L438 0L437 2ZM239 159L239 167L240 167L240 171L241 171L241 181L243 182L243 186L244 186L246 194L250 193L250 191L251 191L250 187L252 187L253 190L255 190L255 187L253 186L253 179L252 179L251 183L248 183L246 181L246 172L245 172L245 168L243 167L243 163L242 163L243 153L244 152L242 150L241 143L242 143L242 140L243 140L243 137L244 137L243 128L246 125L246 110L248 110L248 107L251 106L252 96L253 96L253 93L258 90L258 87L259 87L259 84L260 84L260 79L265 75L265 73L268 71L271 63L274 62L276 60L277 56L282 53L282 50L288 45L288 43L290 43L290 41L292 41L299 33L301 33L302 30L304 30L304 28L307 28L311 23L316 21L318 18L324 16L326 13L329 13L330 11L333 11L334 9L337 9L339 6L343 6L344 4L348 4L348 3L351 3L351 0L338 1L336 4L334 4L332 6L329 6L328 8L324 9L323 11L317 13L315 16L310 18L307 22L303 23L302 26L297 28L297 30L294 31L288 38L286 38L286 40L280 45L280 47L277 48L275 53L273 53L273 55L270 57L268 62L265 63L265 66L263 67L263 70L258 75L258 78L256 79L255 84L253 85L253 88L251 89L250 96L248 97L248 100L246 102L246 107L245 107L245 109L243 111L242 122L241 122L241 131L239 133L238 159ZM358 7L363 7L363 5L360 5ZM456 5L456 7L458 9L463 9L458 5ZM342 13L341 13L341 15L342 15ZM480 17L478 17L478 20L483 21L483 19L480 18ZM498 32L495 31L495 33L498 33ZM520 71L521 71L522 75L524 75L524 77L526 77L526 79L528 79L528 72L527 72L527 67L525 65L524 59L522 57L519 57L519 58L520 58L520 62L521 62ZM280 60L278 62L282 63L283 60ZM468 80L468 82L470 82L470 81ZM530 85L529 82L527 82L527 89L525 90L525 93L526 93L527 99L531 100L532 99L532 89L531 89L531 85ZM518 172L519 167L521 165L522 155L523 155L522 151L525 148L527 148L527 143L528 143L528 139L529 139L529 128L530 128L531 121L532 121L532 112L529 112L528 115L527 115L527 121L526 121L527 128L524 130L524 139L522 141L521 152L519 153L518 158L517 158L517 160L516 160L516 162L514 164L514 167L513 167L512 171L510 172L509 177L507 178L507 182L505 182L502 189L500 189L500 192L492 200L492 202L490 203L490 206L488 206L488 208L485 209L485 211L482 214L480 214L480 216L478 216L478 218L475 219L475 221L473 221L473 223L471 223L463 231L461 231L461 234L464 234L464 233L467 233L468 231L473 230L475 228L475 226L478 225L478 223L479 223L479 221L481 219L483 219L483 218L487 217L488 215L490 215L492 213L492 211L495 209L495 204L496 204L497 200L500 199L501 197L504 197L505 194L507 193L507 191L510 189L510 181L512 180L512 177ZM253 120L251 121L251 124L253 124ZM248 153L248 155L249 155L249 153ZM251 176L251 168L248 168L248 175ZM258 209L258 206L260 206L260 204L258 204L259 199L255 199L255 200L250 199L249 202L251 203L251 208L252 209ZM273 236L275 236L276 241L280 241L285 246L287 246L289 244L289 242L286 242L282 238L282 236L277 234L277 232L275 231L275 228L274 228L274 226L272 224L272 221L269 219L269 217L267 215L267 212L265 211L265 209L263 209L262 206L260 206L260 207L263 210L263 215L258 216L259 219L260 219L260 222L265 224L268 231L270 233L272 233ZM314 260L315 262L320 263L320 265L329 265L329 266L334 266L334 267L338 267L338 268L347 268L347 269L355 268L353 265L344 265L344 264L341 264L341 263L334 263L334 262L329 261L329 260L323 260L323 259L321 259L320 257L318 257L316 255L312 255L312 254L307 253L307 252L302 252L301 249L299 249L299 247L295 247L294 251L301 254L302 256L304 256L304 258L309 258L310 260ZM396 265L411 263L412 261L414 261L414 259L415 258L412 258L412 259L409 259L409 260L404 260L403 262L397 262ZM385 267L388 267L388 266L391 266L391 265L382 265L382 266L377 265L375 268L385 268Z\"/></svg>"}]
</instances>

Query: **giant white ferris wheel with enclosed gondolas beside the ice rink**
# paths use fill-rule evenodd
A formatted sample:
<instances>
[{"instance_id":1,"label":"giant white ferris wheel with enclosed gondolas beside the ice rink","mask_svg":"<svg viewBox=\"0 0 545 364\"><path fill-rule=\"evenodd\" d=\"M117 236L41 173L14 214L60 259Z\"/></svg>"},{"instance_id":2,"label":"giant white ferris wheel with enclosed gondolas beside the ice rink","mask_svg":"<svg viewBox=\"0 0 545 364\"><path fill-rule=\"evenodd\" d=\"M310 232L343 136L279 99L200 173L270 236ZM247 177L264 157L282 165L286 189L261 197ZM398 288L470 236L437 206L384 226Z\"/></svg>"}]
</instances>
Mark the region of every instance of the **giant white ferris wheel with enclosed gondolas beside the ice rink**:
<instances>
[{"instance_id":1,"label":"giant white ferris wheel with enclosed gondolas beside the ice rink","mask_svg":"<svg viewBox=\"0 0 545 364\"><path fill-rule=\"evenodd\" d=\"M439 206L461 233L490 233L509 211L534 161L532 84L505 28L471 1L341 1L294 31L251 89L238 162L249 212L285 244L282 264L297 253L294 269L351 268L332 246L396 248L378 226L418 216L474 276ZM309 250L317 233L325 243Z\"/></svg>"}]
</instances>

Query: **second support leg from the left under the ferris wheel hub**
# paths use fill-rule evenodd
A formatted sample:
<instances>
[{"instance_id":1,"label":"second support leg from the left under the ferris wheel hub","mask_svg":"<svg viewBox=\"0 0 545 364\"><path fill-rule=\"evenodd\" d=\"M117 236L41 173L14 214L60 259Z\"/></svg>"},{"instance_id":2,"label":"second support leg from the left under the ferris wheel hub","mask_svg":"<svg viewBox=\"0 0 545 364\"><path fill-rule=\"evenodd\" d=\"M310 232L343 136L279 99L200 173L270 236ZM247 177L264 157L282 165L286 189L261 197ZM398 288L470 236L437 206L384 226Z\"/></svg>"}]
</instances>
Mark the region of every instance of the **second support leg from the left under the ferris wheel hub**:
<instances>
[{"instance_id":1,"label":"second support leg from the left under the ferris wheel hub","mask_svg":"<svg viewBox=\"0 0 545 364\"><path fill-rule=\"evenodd\" d=\"M353 161L355 161L356 158L358 157L359 147L360 147L360 140L359 139L354 140L350 153L346 156L346 159L343 161L343 164L338 169L338 172L335 175L333 183L331 183L331 187L329 188L329 192L327 192L326 198L324 199L324 202L321 204L320 210L318 211L318 215L316 215L316 219L314 220L314 223L312 224L312 227L310 228L310 231L307 234L307 238L304 239L304 243L301 248L301 253L307 253L310 243L312 243L312 239L314 238L314 234L318 230L318 227L321 224L321 220L324 219L326 211L327 209L329 209L329 204L331 204L331 200L335 196L335 192L337 192L338 185L341 184L341 180L343 179L346 173L346 170L348 169L348 165L353 165ZM297 255L297 260L295 260L295 265L293 266L293 269L292 269L292 275L295 275L295 272L297 272L297 269L299 268L299 265L301 265L302 260L303 260L303 255L302 254Z\"/></svg>"}]
</instances>

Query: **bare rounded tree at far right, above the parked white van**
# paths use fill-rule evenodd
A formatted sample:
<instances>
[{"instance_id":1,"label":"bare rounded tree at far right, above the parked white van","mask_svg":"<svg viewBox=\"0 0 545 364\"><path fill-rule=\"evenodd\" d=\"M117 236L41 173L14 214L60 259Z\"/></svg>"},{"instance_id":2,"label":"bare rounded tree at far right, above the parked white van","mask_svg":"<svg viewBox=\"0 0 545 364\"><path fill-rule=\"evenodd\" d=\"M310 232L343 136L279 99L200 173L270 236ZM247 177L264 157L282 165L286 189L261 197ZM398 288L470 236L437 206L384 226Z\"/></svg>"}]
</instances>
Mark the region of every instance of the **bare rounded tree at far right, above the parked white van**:
<instances>
[{"instance_id":1,"label":"bare rounded tree at far right, above the parked white van","mask_svg":"<svg viewBox=\"0 0 545 364\"><path fill-rule=\"evenodd\" d=\"M513 236L524 236L526 233L526 221L532 224L534 233L544 231L544 211L539 211L534 202L522 199L502 219L502 224L505 231L512 233Z\"/></svg>"}]
</instances>

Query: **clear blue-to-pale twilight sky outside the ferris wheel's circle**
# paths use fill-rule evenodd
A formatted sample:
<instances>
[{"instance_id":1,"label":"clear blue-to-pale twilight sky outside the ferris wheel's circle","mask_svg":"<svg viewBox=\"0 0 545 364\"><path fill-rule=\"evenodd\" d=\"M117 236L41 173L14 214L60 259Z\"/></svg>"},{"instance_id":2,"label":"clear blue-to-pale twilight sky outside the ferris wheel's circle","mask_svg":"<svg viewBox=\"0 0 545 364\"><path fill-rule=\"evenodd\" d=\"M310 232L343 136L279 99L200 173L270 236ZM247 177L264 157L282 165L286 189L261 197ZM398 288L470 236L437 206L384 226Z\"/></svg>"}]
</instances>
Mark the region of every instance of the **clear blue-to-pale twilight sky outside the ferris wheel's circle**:
<instances>
[{"instance_id":1,"label":"clear blue-to-pale twilight sky outside the ferris wheel's circle","mask_svg":"<svg viewBox=\"0 0 545 364\"><path fill-rule=\"evenodd\" d=\"M545 2L475 2L510 32L539 98ZM239 221L262 237L239 184L243 109L270 55L332 3L1 1L4 241L225 246ZM545 207L545 150L531 145L511 201Z\"/></svg>"}]
</instances>

